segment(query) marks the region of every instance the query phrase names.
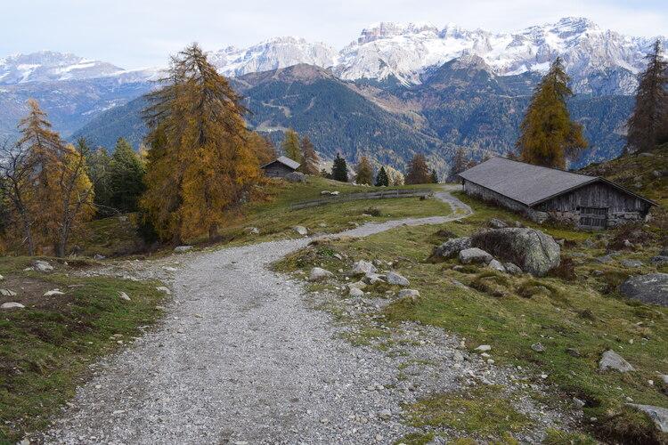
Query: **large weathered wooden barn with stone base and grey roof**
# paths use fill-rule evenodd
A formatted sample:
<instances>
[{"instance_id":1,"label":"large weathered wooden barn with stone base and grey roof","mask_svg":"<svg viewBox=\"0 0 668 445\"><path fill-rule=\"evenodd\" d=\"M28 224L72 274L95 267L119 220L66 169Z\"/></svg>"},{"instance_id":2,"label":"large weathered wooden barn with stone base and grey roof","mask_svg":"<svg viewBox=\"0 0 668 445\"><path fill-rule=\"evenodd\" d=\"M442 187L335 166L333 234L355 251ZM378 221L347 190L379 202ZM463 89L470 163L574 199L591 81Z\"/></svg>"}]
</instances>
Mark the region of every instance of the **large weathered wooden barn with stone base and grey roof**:
<instances>
[{"instance_id":1,"label":"large weathered wooden barn with stone base and grey roof","mask_svg":"<svg viewBox=\"0 0 668 445\"><path fill-rule=\"evenodd\" d=\"M464 192L525 214L582 229L601 230L644 221L656 202L615 182L509 160L491 158L460 173Z\"/></svg>"}]
</instances>

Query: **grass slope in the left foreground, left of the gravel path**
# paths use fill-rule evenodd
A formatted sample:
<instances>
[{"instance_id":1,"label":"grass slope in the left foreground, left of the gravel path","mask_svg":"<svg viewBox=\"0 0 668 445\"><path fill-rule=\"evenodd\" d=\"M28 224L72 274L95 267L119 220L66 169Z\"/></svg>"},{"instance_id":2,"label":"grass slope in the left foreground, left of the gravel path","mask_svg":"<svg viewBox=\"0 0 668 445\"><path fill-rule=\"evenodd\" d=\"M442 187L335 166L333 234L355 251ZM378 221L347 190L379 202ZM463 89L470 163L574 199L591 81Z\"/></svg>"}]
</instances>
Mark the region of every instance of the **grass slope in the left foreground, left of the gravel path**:
<instances>
[{"instance_id":1,"label":"grass slope in the left foreground, left of the gravel path","mask_svg":"<svg viewBox=\"0 0 668 445\"><path fill-rule=\"evenodd\" d=\"M156 290L157 282L21 271L26 263L28 258L3 258L0 273L59 287L66 295L48 307L37 303L0 313L0 444L15 443L23 433L48 425L91 363L123 347L118 341L126 344L141 336L138 327L159 318L156 304L164 295ZM119 298L119 291L132 300Z\"/></svg>"}]
</instances>

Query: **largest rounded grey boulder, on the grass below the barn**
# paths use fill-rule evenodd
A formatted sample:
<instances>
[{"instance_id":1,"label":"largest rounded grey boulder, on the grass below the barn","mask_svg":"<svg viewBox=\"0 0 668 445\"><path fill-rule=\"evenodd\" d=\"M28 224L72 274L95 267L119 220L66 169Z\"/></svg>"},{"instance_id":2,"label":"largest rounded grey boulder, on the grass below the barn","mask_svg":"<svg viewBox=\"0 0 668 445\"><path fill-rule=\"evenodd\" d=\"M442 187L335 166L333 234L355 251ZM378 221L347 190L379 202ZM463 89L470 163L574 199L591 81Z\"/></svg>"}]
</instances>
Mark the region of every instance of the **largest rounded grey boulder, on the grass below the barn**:
<instances>
[{"instance_id":1,"label":"largest rounded grey boulder, on the grass below the barn","mask_svg":"<svg viewBox=\"0 0 668 445\"><path fill-rule=\"evenodd\" d=\"M484 231L472 237L471 245L504 262L515 263L536 277L542 277L561 262L557 241L535 229L509 227Z\"/></svg>"}]
</instances>

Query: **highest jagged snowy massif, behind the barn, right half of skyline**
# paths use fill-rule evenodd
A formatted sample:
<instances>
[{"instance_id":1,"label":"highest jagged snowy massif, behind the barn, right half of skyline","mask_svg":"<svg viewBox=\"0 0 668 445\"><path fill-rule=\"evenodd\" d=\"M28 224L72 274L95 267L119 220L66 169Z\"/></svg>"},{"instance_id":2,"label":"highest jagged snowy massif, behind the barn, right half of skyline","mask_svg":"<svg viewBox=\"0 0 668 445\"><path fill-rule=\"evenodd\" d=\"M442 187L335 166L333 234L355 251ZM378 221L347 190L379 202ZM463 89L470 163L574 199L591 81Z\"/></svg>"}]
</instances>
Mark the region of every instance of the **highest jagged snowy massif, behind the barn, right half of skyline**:
<instances>
[{"instance_id":1,"label":"highest jagged snowy massif, behind the barn, right half of skyline","mask_svg":"<svg viewBox=\"0 0 668 445\"><path fill-rule=\"evenodd\" d=\"M576 92L631 94L655 38L623 36L583 18L499 34L452 24L439 30L429 23L384 22L347 45L335 71L350 80L394 76L403 84L418 84L428 68L461 55L481 57L500 76L544 72L560 56Z\"/></svg>"}]
</instances>

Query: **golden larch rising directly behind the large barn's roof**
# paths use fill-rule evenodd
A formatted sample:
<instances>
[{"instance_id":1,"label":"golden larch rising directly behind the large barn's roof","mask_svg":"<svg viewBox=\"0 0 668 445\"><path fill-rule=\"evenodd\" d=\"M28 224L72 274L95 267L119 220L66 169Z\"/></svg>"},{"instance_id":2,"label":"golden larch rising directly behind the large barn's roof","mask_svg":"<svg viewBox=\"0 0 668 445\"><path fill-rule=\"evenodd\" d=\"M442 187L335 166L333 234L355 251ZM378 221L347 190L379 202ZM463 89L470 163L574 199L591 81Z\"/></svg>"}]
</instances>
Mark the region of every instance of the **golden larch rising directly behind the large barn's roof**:
<instances>
[{"instance_id":1,"label":"golden larch rising directly behind the large barn's roof","mask_svg":"<svg viewBox=\"0 0 668 445\"><path fill-rule=\"evenodd\" d=\"M568 88L569 80L557 58L535 87L517 139L523 162L566 168L566 159L577 158L587 148L582 125L571 121L566 107L566 99L574 96Z\"/></svg>"}]
</instances>

